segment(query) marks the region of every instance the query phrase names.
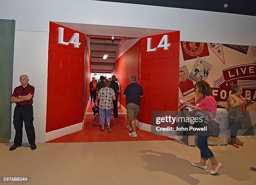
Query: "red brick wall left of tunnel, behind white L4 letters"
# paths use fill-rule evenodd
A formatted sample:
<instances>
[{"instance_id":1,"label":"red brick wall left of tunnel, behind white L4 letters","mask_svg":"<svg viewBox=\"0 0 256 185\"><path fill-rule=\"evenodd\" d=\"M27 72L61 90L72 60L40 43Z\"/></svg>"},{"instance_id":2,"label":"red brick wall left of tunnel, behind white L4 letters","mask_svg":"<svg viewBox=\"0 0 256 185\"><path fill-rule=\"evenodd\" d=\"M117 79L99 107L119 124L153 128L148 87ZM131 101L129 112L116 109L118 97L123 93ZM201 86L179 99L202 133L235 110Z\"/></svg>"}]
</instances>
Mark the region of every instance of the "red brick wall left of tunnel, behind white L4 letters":
<instances>
[{"instance_id":1,"label":"red brick wall left of tunnel, behind white L4 letters","mask_svg":"<svg viewBox=\"0 0 256 185\"><path fill-rule=\"evenodd\" d=\"M58 44L58 28L64 28L64 41L79 33L79 48ZM84 106L85 35L50 22L46 132L81 123Z\"/></svg>"}]
</instances>

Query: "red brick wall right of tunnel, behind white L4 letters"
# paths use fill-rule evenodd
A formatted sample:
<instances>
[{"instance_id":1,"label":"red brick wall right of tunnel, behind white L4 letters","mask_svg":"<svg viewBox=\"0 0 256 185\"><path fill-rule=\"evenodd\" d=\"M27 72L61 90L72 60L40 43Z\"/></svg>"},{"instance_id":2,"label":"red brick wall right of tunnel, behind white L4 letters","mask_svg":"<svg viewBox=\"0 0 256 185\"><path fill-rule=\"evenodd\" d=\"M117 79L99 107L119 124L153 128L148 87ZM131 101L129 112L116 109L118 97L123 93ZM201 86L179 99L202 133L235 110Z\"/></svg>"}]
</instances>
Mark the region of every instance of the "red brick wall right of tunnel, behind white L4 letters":
<instances>
[{"instance_id":1,"label":"red brick wall right of tunnel, behind white L4 letters","mask_svg":"<svg viewBox=\"0 0 256 185\"><path fill-rule=\"evenodd\" d=\"M168 35L169 50L157 48L147 52L147 38L151 48L157 47L163 35ZM144 37L141 39L139 84L143 87L138 120L151 123L151 111L178 110L179 97L179 31Z\"/></svg>"}]
</instances>

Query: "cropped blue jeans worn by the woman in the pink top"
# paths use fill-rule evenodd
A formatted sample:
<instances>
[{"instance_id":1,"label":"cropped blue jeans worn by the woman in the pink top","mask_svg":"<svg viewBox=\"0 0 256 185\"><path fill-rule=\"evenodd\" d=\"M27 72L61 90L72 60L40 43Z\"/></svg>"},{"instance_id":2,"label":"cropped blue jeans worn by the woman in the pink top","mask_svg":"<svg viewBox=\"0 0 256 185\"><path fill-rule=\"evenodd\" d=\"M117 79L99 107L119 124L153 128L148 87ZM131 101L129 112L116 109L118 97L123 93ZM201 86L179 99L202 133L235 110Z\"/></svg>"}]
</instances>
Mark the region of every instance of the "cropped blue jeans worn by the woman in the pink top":
<instances>
[{"instance_id":1,"label":"cropped blue jeans worn by the woman in the pink top","mask_svg":"<svg viewBox=\"0 0 256 185\"><path fill-rule=\"evenodd\" d=\"M210 148L208 147L208 140L209 136L203 136L202 134L196 134L196 145L201 152L201 159L208 160L213 159L214 155Z\"/></svg>"}]
</instances>

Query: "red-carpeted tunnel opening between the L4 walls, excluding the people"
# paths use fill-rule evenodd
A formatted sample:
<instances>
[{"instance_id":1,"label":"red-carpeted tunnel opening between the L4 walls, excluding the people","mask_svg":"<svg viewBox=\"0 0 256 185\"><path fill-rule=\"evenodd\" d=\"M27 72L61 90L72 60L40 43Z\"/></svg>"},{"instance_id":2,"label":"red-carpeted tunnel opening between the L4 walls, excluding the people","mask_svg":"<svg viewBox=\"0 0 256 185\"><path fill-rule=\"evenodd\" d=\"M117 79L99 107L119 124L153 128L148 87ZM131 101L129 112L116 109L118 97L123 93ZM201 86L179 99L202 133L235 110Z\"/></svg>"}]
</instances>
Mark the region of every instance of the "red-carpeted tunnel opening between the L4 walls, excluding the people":
<instances>
[{"instance_id":1,"label":"red-carpeted tunnel opening between the L4 walls, excluding the people","mask_svg":"<svg viewBox=\"0 0 256 185\"><path fill-rule=\"evenodd\" d=\"M167 137L155 136L150 132L150 122L141 126L138 138L128 136L128 121L126 116L126 101L123 91L131 83L130 77L137 76L141 84L141 38L172 32L172 30L159 30L148 28L130 28L107 25L88 25L76 23L57 23L85 34L84 54L84 114L82 130L68 134L49 142L101 142L101 141L132 141L132 140L169 140ZM156 36L157 38L157 36ZM159 41L158 41L159 42ZM156 45L152 43L152 47ZM105 55L108 55L104 58ZM103 74L103 75L102 75ZM120 96L118 117L111 118L113 133L102 133L98 129L99 116L92 119L92 106L90 102L89 84L92 77L98 80L100 76L110 78L115 75L120 82ZM81 74L80 74L81 76ZM143 109L142 109L143 110ZM142 112L141 110L141 112ZM144 123L143 123L144 124ZM139 126L138 125L138 126ZM144 130L143 130L144 129Z\"/></svg>"}]
</instances>

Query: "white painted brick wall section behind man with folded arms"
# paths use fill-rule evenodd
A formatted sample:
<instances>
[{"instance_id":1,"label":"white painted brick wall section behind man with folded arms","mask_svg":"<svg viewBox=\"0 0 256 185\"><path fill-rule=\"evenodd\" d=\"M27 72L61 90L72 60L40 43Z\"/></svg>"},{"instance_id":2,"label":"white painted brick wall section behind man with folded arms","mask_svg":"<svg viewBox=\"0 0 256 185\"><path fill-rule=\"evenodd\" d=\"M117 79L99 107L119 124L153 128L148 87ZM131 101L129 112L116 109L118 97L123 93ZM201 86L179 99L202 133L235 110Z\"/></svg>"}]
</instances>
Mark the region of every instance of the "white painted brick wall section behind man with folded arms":
<instances>
[{"instance_id":1,"label":"white painted brick wall section behind man with folded arms","mask_svg":"<svg viewBox=\"0 0 256 185\"><path fill-rule=\"evenodd\" d=\"M22 74L28 75L29 84L35 87L35 95L33 98L33 123L36 132L36 142L45 142L48 42L49 32L15 31L13 90L16 86L20 86L19 77ZM15 129L13 127L14 108L15 104L12 104L10 142L13 142L15 136ZM23 142L28 142L24 125Z\"/></svg>"}]
</instances>

